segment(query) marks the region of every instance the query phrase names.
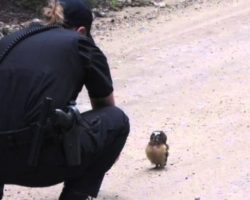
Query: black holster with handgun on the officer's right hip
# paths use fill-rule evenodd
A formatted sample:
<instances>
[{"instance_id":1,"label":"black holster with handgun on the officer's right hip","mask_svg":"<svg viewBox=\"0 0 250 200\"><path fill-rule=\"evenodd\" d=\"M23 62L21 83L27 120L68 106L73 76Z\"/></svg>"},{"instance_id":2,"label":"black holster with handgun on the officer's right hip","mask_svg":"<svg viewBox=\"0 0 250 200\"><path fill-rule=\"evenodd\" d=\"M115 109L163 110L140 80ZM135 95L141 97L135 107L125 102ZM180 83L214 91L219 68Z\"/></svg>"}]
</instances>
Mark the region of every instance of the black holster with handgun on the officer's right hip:
<instances>
[{"instance_id":1,"label":"black holster with handgun on the officer's right hip","mask_svg":"<svg viewBox=\"0 0 250 200\"><path fill-rule=\"evenodd\" d=\"M81 116L75 105L68 106L68 111L55 110L54 124L61 129L63 134L63 148L67 164L77 166L81 164L80 133L84 127L81 126Z\"/></svg>"}]
</instances>

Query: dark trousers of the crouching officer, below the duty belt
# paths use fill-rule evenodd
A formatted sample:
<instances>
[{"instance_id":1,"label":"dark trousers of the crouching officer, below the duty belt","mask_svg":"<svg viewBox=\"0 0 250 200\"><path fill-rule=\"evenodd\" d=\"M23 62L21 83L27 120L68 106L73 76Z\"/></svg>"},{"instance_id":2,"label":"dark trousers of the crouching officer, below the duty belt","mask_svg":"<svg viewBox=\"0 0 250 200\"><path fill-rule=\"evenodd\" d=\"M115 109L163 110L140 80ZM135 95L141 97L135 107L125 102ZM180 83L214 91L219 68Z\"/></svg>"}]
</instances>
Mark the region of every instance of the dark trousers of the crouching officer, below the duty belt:
<instances>
[{"instance_id":1,"label":"dark trousers of the crouching officer, below the duty belt","mask_svg":"<svg viewBox=\"0 0 250 200\"><path fill-rule=\"evenodd\" d=\"M1 182L29 187L46 187L64 182L64 192L73 190L96 197L105 173L124 147L129 121L117 107L89 111L83 113L82 118L92 131L81 133L80 166L67 166L61 143L55 138L47 138L39 166L35 168L27 165L30 145L0 150L0 163L5 163L0 165Z\"/></svg>"}]
</instances>

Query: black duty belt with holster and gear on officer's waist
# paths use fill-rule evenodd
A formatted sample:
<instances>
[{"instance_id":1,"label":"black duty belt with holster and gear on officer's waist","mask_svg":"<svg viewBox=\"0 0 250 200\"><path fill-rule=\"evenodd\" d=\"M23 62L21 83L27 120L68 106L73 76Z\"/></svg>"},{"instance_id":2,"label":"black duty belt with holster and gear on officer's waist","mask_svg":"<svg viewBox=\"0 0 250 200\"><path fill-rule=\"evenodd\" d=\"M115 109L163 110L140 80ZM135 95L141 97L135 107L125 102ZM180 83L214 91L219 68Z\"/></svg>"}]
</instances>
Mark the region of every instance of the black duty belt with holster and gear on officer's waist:
<instances>
[{"instance_id":1,"label":"black duty belt with holster and gear on officer's waist","mask_svg":"<svg viewBox=\"0 0 250 200\"><path fill-rule=\"evenodd\" d=\"M41 106L39 120L29 127L0 132L0 149L28 144L30 153L28 165L36 167L39 164L41 147L45 139L61 138L66 161L70 166L81 164L80 134L89 127L80 116L79 110L71 102L68 110L53 109L53 100L45 98Z\"/></svg>"}]
</instances>

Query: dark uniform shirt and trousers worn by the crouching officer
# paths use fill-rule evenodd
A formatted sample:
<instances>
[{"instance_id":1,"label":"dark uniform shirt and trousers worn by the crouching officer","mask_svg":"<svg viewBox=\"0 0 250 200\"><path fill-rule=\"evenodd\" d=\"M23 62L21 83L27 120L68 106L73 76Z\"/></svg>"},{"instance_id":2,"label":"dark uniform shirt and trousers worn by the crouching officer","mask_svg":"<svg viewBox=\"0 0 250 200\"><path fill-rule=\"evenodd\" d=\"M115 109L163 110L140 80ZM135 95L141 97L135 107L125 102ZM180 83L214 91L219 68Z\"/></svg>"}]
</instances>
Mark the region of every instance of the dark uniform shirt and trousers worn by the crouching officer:
<instances>
[{"instance_id":1,"label":"dark uniform shirt and trousers worn by the crouching officer","mask_svg":"<svg viewBox=\"0 0 250 200\"><path fill-rule=\"evenodd\" d=\"M31 28L0 40L0 53L28 29ZM38 120L45 97L53 98L55 108L64 109L76 100L84 85L92 98L106 97L113 91L105 56L77 32L52 28L20 40L9 51L0 63L2 183L48 186L64 181L66 190L73 188L97 195L105 172L119 155L129 133L128 118L119 108L106 107L81 114L92 131L81 133L80 166L67 166L60 133L52 127L46 129L38 166L28 166L32 130L18 133ZM13 130L17 130L14 137Z\"/></svg>"}]
</instances>

